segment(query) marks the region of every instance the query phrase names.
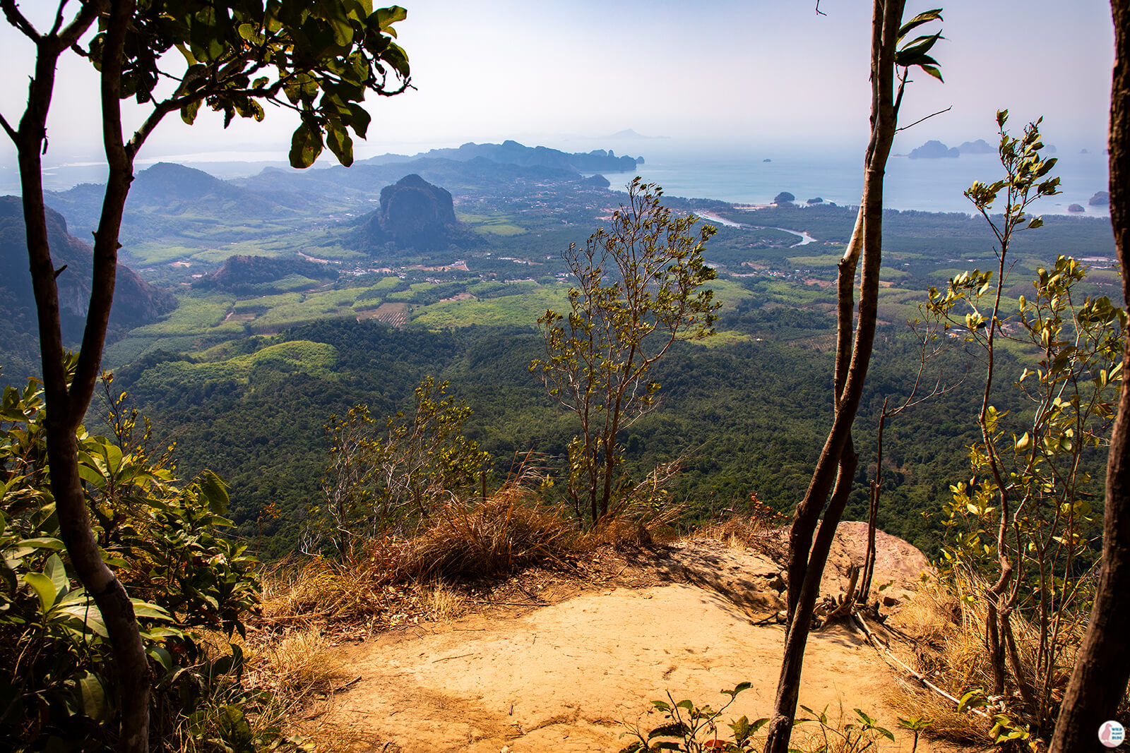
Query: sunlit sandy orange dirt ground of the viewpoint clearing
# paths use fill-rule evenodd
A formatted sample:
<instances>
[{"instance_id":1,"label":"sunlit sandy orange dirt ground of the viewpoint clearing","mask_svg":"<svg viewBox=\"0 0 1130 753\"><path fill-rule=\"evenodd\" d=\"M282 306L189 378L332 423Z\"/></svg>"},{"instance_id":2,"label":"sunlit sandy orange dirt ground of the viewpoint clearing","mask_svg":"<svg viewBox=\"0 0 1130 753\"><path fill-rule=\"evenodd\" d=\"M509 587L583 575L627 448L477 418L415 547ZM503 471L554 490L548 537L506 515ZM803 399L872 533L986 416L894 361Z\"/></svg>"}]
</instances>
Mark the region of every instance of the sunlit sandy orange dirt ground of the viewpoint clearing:
<instances>
[{"instance_id":1,"label":"sunlit sandy orange dirt ground of the viewpoint clearing","mask_svg":"<svg viewBox=\"0 0 1130 753\"><path fill-rule=\"evenodd\" d=\"M846 525L831 558L824 585L832 595L862 559L852 525L860 524ZM888 592L904 598L925 567L918 550L880 537L877 585L892 581ZM720 691L742 681L753 688L722 721L768 716L784 637L774 620L784 585L777 564L694 540L606 572L588 585L529 583L485 613L342 647L348 690L307 712L311 736L390 753L619 751L631 742L621 733L662 724L647 713L650 701L670 693L719 708ZM861 634L832 625L808 641L800 703L845 721L861 708L896 734L881 750L909 752L912 737L885 701L895 682ZM817 729L799 727L794 743L806 727ZM923 741L919 750L949 748Z\"/></svg>"}]
</instances>

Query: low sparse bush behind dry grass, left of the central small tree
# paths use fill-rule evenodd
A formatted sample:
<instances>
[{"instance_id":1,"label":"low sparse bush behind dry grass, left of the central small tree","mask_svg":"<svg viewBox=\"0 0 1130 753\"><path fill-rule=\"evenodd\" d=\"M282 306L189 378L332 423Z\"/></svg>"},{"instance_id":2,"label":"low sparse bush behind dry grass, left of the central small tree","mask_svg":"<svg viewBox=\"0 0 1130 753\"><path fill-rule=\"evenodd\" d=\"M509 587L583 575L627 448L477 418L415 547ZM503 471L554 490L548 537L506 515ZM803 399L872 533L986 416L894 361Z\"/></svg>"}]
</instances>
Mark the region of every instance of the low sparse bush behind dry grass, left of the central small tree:
<instances>
[{"instance_id":1,"label":"low sparse bush behind dry grass, left of the central small tree","mask_svg":"<svg viewBox=\"0 0 1130 753\"><path fill-rule=\"evenodd\" d=\"M406 420L398 412L385 419L381 439L364 405L349 409L344 419L330 417L325 504L310 509L315 541L331 539L338 554L346 557L355 540L371 539L393 524L424 520L441 502L463 499L475 489L490 456L463 436L471 409L446 389L446 382L426 377L416 388L411 417Z\"/></svg>"}]
</instances>

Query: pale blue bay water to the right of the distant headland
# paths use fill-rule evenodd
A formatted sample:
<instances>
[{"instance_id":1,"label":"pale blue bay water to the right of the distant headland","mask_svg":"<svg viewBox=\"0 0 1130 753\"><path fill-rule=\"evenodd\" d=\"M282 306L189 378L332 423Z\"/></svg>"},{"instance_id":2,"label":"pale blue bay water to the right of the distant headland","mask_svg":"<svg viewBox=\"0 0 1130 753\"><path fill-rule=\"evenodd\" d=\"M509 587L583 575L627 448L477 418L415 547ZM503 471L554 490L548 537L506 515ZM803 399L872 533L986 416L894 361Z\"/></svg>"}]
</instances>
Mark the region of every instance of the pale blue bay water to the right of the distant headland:
<instances>
[{"instance_id":1,"label":"pale blue bay water to the right of the distant headland","mask_svg":"<svg viewBox=\"0 0 1130 753\"><path fill-rule=\"evenodd\" d=\"M619 154L619 152L617 152ZM649 149L641 143L626 154L641 154L645 163L636 172L661 185L671 196L721 199L733 203L764 204L782 191L798 203L822 198L837 204L859 204L863 190L862 152L844 155L750 155L746 157L694 155ZM651 156L649 156L651 155ZM1042 199L1031 208L1035 214L1066 214L1068 205L1086 208L1086 216L1107 214L1106 207L1087 201L1107 190L1106 155L1055 155L1053 175L1060 176L1062 193ZM771 159L772 161L763 161ZM991 182L1002 176L996 155L964 155L956 159L892 157L887 164L886 207L930 212L972 212L963 192L973 181ZM607 175L612 187L623 187L626 174Z\"/></svg>"}]
</instances>

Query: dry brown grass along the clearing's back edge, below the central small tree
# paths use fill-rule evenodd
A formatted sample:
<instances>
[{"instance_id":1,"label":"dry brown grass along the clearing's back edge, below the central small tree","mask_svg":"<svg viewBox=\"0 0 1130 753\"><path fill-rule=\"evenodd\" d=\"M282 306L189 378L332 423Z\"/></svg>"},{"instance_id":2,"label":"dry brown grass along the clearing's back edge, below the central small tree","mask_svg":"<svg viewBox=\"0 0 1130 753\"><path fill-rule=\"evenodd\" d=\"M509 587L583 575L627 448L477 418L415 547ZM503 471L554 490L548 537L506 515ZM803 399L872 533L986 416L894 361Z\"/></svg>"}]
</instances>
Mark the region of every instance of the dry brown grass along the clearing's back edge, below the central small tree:
<instances>
[{"instance_id":1,"label":"dry brown grass along the clearing's back edge, below the central small tree","mask_svg":"<svg viewBox=\"0 0 1130 753\"><path fill-rule=\"evenodd\" d=\"M681 508L658 502L673 464L594 531L583 531L565 505L545 502L534 462L516 466L489 499L436 505L409 535L372 540L345 561L276 564L262 578L264 625L279 632L333 623L363 637L405 621L447 620L467 611L471 590L530 568L574 571L602 548L638 549L675 535L670 524Z\"/></svg>"}]
</instances>

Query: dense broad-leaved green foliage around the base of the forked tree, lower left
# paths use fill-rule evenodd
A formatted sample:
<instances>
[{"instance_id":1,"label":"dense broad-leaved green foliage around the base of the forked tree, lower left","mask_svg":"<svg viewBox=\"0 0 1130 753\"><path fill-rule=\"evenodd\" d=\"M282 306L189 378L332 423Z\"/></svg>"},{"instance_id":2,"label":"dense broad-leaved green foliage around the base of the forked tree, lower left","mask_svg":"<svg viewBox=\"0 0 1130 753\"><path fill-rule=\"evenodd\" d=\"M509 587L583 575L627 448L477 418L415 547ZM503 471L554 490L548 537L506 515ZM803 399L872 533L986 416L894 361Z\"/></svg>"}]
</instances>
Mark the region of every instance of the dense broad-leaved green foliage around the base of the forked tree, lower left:
<instances>
[{"instance_id":1,"label":"dense broad-leaved green foliage around the base of the forked tree, lower left","mask_svg":"<svg viewBox=\"0 0 1130 753\"><path fill-rule=\"evenodd\" d=\"M106 376L107 392L112 377ZM157 678L155 739L214 737L234 750L287 743L277 728L244 732L270 699L242 688L242 655L212 658L202 629L244 632L258 605L255 561L219 535L223 482L190 483L172 471L172 447L150 445L146 422L110 404L113 438L79 431L79 471L103 559L130 586L133 611ZM59 539L44 447L46 411L34 382L0 401L0 739L11 750L82 744L113 747L120 709L101 613L77 585ZM202 719L224 707L220 729ZM254 737L254 736L252 736ZM223 739L219 739L223 738Z\"/></svg>"}]
</instances>

